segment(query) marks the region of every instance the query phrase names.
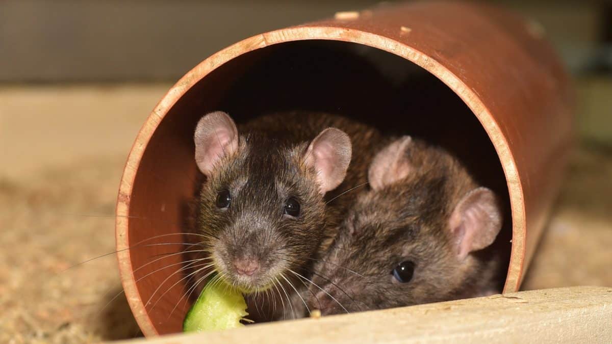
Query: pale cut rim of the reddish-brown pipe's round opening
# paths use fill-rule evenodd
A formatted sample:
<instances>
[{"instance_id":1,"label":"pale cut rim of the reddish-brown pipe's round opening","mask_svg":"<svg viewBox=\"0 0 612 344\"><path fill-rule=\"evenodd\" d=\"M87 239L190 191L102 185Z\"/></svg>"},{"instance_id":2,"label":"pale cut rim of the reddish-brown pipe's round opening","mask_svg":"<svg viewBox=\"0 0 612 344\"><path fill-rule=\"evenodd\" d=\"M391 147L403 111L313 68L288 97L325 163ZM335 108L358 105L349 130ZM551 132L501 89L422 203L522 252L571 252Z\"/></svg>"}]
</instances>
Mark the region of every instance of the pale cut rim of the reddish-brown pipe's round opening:
<instances>
[{"instance_id":1,"label":"pale cut rim of the reddish-brown pipe's round opening","mask_svg":"<svg viewBox=\"0 0 612 344\"><path fill-rule=\"evenodd\" d=\"M188 89L192 88L193 85L198 83L213 70L220 67L220 65L242 54L250 53L253 50L299 40L334 40L339 42L358 43L395 54L430 72L455 92L455 94L457 94L470 108L493 143L494 149L501 162L502 169L504 170L504 176L506 177L510 196L510 209L512 212L512 249L506 282L504 284L504 293L518 291L524 268L524 242L526 236L523 187L507 139L501 132L501 129L499 129L499 125L494 120L490 111L488 111L487 107L485 107L484 103L479 99L476 92L434 58L427 56L427 54L422 51L410 47L405 43L371 32L348 29L340 26L307 25L278 29L252 36L211 55L187 72L187 74L170 88L146 119L140 132L138 132L132 149L130 149L127 162L125 163L124 173L119 186L115 218L115 238L116 249L118 250L117 256L121 283L136 322L145 336L158 335L159 333L148 316L133 275L132 260L129 250L129 207L136 171L138 170L138 165L143 157L144 149L149 139L157 129L160 121L177 100L179 100Z\"/></svg>"}]
</instances>

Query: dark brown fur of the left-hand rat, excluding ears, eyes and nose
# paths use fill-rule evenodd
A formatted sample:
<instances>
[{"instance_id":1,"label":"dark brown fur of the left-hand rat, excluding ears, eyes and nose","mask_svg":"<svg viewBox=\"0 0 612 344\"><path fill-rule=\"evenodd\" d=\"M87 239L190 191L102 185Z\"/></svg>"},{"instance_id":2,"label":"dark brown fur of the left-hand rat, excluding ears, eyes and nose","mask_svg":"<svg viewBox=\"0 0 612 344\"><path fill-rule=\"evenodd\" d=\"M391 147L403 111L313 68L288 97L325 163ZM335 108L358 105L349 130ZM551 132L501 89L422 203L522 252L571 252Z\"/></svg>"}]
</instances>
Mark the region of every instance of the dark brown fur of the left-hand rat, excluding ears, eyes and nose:
<instances>
[{"instance_id":1,"label":"dark brown fur of the left-hand rat, excluding ears, eyes and nose","mask_svg":"<svg viewBox=\"0 0 612 344\"><path fill-rule=\"evenodd\" d=\"M315 171L307 167L303 158L310 141L327 127L346 132L356 154L344 182L324 197L315 183ZM367 166L385 142L370 127L317 113L263 116L239 125L238 132L237 151L223 157L201 185L192 225L197 233L207 236L197 240L207 252L189 259L211 254L214 268L226 282L245 293L277 294L280 286L274 284L278 285L278 280L286 277L295 282L296 276L289 269L302 275L312 270L312 258L335 236L340 214L346 212L358 189L326 202L366 182ZM215 206L217 193L223 188L232 193L231 206L226 211ZM283 204L289 196L299 200L301 212L297 219L283 216ZM255 256L261 264L253 279L243 279L231 266L232 260L244 256ZM200 280L208 271L198 272L193 280ZM292 291L286 285L285 289ZM269 312L272 306L258 307ZM266 318L250 312L252 318Z\"/></svg>"}]
</instances>

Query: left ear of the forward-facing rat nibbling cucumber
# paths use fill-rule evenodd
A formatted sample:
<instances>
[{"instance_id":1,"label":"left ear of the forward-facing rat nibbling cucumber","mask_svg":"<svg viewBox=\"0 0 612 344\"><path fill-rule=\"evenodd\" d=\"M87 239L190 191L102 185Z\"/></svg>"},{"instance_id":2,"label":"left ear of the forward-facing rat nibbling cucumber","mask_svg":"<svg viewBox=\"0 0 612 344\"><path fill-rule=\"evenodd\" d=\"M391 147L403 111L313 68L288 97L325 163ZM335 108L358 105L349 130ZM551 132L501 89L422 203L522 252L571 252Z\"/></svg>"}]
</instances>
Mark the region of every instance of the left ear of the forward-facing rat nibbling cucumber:
<instances>
[{"instance_id":1,"label":"left ear of the forward-facing rat nibbling cucumber","mask_svg":"<svg viewBox=\"0 0 612 344\"><path fill-rule=\"evenodd\" d=\"M200 171L209 176L222 157L238 149L238 130L225 112L215 111L198 121L195 134L195 162Z\"/></svg>"}]
</instances>

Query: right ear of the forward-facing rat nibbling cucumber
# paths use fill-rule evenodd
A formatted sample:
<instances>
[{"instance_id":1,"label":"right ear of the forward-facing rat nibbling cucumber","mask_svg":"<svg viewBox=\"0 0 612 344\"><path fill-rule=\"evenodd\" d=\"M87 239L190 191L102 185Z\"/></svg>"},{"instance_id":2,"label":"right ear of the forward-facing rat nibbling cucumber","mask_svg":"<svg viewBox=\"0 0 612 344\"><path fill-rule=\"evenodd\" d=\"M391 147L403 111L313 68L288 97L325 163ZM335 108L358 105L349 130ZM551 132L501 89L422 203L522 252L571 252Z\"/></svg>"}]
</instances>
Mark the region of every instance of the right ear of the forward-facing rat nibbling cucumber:
<instances>
[{"instance_id":1,"label":"right ear of the forward-facing rat nibbling cucumber","mask_svg":"<svg viewBox=\"0 0 612 344\"><path fill-rule=\"evenodd\" d=\"M340 129L327 128L312 140L304 153L304 163L315 168L321 195L344 180L351 152L351 138Z\"/></svg>"}]
</instances>

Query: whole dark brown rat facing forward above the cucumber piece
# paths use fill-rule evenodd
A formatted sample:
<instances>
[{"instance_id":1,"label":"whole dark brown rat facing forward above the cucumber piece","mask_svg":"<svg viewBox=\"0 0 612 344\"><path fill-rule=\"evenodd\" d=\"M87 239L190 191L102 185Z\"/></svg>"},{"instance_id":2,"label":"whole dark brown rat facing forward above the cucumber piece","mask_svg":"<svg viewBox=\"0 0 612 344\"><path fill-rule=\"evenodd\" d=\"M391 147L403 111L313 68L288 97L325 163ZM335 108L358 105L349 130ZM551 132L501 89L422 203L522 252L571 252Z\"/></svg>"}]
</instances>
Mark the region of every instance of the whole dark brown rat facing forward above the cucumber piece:
<instances>
[{"instance_id":1,"label":"whole dark brown rat facing forward above the cucumber piece","mask_svg":"<svg viewBox=\"0 0 612 344\"><path fill-rule=\"evenodd\" d=\"M313 257L332 241L351 203L347 190L365 184L383 136L332 114L290 111L237 126L215 111L200 119L194 141L205 181L190 225L199 250L189 259L198 263L191 290L216 274L258 308L252 320L272 320L276 297L297 291L283 283L310 275ZM258 294L274 295L270 305L255 301Z\"/></svg>"}]
</instances>

